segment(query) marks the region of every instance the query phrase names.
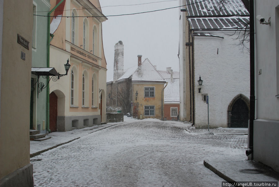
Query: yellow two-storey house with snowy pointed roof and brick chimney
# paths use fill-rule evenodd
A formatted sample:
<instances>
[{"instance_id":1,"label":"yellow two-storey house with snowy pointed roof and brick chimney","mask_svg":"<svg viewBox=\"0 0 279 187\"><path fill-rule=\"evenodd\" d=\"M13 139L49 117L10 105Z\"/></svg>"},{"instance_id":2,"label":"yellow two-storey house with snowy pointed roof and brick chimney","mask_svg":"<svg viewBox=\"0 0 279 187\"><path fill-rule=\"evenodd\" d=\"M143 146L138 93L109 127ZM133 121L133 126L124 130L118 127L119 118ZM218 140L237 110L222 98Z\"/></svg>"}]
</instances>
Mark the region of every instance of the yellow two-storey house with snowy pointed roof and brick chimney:
<instances>
[{"instance_id":1,"label":"yellow two-storey house with snowy pointed roof and brick chimney","mask_svg":"<svg viewBox=\"0 0 279 187\"><path fill-rule=\"evenodd\" d=\"M166 81L146 58L132 75L132 115L139 119L157 118L163 120L164 84Z\"/></svg>"}]
</instances>

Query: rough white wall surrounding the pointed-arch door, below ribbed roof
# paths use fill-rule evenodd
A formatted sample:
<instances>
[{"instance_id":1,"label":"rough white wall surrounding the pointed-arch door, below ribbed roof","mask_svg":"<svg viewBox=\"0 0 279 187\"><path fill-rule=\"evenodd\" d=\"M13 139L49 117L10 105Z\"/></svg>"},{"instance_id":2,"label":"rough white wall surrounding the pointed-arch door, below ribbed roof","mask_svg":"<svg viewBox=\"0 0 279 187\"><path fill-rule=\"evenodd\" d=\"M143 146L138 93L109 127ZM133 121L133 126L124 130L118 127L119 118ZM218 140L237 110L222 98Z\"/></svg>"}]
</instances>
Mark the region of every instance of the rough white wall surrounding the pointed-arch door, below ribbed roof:
<instances>
[{"instance_id":1,"label":"rough white wall surrounding the pointed-arch door, below ribbed roof","mask_svg":"<svg viewBox=\"0 0 279 187\"><path fill-rule=\"evenodd\" d=\"M228 126L228 105L242 93L250 97L250 58L246 48L237 46L229 36L232 31L212 31L222 38L195 37L195 126L207 126L207 104L201 94L209 96L210 127ZM228 33L229 32L229 33ZM247 44L249 46L249 43ZM218 50L218 54L217 54ZM201 93L198 93L199 76L203 80ZM248 123L248 121L247 121Z\"/></svg>"}]
</instances>

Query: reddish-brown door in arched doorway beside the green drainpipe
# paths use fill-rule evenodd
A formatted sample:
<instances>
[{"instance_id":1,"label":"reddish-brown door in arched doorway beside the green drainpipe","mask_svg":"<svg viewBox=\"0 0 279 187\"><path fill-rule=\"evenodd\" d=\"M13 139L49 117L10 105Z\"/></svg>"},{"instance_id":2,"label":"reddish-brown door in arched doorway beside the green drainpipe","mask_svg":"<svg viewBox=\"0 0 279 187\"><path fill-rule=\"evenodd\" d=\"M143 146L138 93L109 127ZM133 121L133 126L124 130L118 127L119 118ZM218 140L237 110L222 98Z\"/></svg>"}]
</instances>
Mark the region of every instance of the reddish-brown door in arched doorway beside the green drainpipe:
<instances>
[{"instance_id":1,"label":"reddish-brown door in arched doorway beside the green drainpipe","mask_svg":"<svg viewBox=\"0 0 279 187\"><path fill-rule=\"evenodd\" d=\"M57 130L57 96L54 92L49 94L49 129Z\"/></svg>"}]
</instances>

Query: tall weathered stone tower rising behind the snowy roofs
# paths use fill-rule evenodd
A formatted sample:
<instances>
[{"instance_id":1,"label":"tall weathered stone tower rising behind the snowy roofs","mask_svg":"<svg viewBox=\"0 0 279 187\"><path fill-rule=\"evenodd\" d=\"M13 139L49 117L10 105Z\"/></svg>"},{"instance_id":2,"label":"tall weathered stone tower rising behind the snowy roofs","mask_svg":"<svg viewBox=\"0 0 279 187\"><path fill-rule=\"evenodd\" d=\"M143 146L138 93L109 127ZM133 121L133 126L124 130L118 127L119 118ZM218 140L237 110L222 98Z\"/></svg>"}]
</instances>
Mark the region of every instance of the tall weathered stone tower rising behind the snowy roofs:
<instances>
[{"instance_id":1,"label":"tall weathered stone tower rising behind the snowy roofs","mask_svg":"<svg viewBox=\"0 0 279 187\"><path fill-rule=\"evenodd\" d=\"M114 46L113 82L124 74L124 45L119 41Z\"/></svg>"}]
</instances>

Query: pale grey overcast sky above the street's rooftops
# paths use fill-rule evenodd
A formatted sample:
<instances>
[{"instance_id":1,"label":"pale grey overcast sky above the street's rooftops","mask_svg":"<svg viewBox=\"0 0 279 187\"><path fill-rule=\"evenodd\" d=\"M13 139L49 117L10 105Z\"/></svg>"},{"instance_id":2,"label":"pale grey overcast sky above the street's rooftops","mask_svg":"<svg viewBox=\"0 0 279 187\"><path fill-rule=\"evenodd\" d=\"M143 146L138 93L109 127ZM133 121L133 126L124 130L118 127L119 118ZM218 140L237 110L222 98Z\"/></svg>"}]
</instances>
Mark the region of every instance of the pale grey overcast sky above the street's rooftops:
<instances>
[{"instance_id":1,"label":"pale grey overcast sky above the street's rooftops","mask_svg":"<svg viewBox=\"0 0 279 187\"><path fill-rule=\"evenodd\" d=\"M154 11L178 7L179 1L166 0L99 0L105 16ZM166 1L166 2L161 2ZM150 3L157 2L157 3ZM134 6L116 6L116 5ZM114 7L106 7L114 6ZM113 79L114 45L124 45L124 70L148 58L158 70L172 67L179 71L179 8L128 16L108 16L103 22L104 54L107 61L107 81Z\"/></svg>"}]
</instances>

